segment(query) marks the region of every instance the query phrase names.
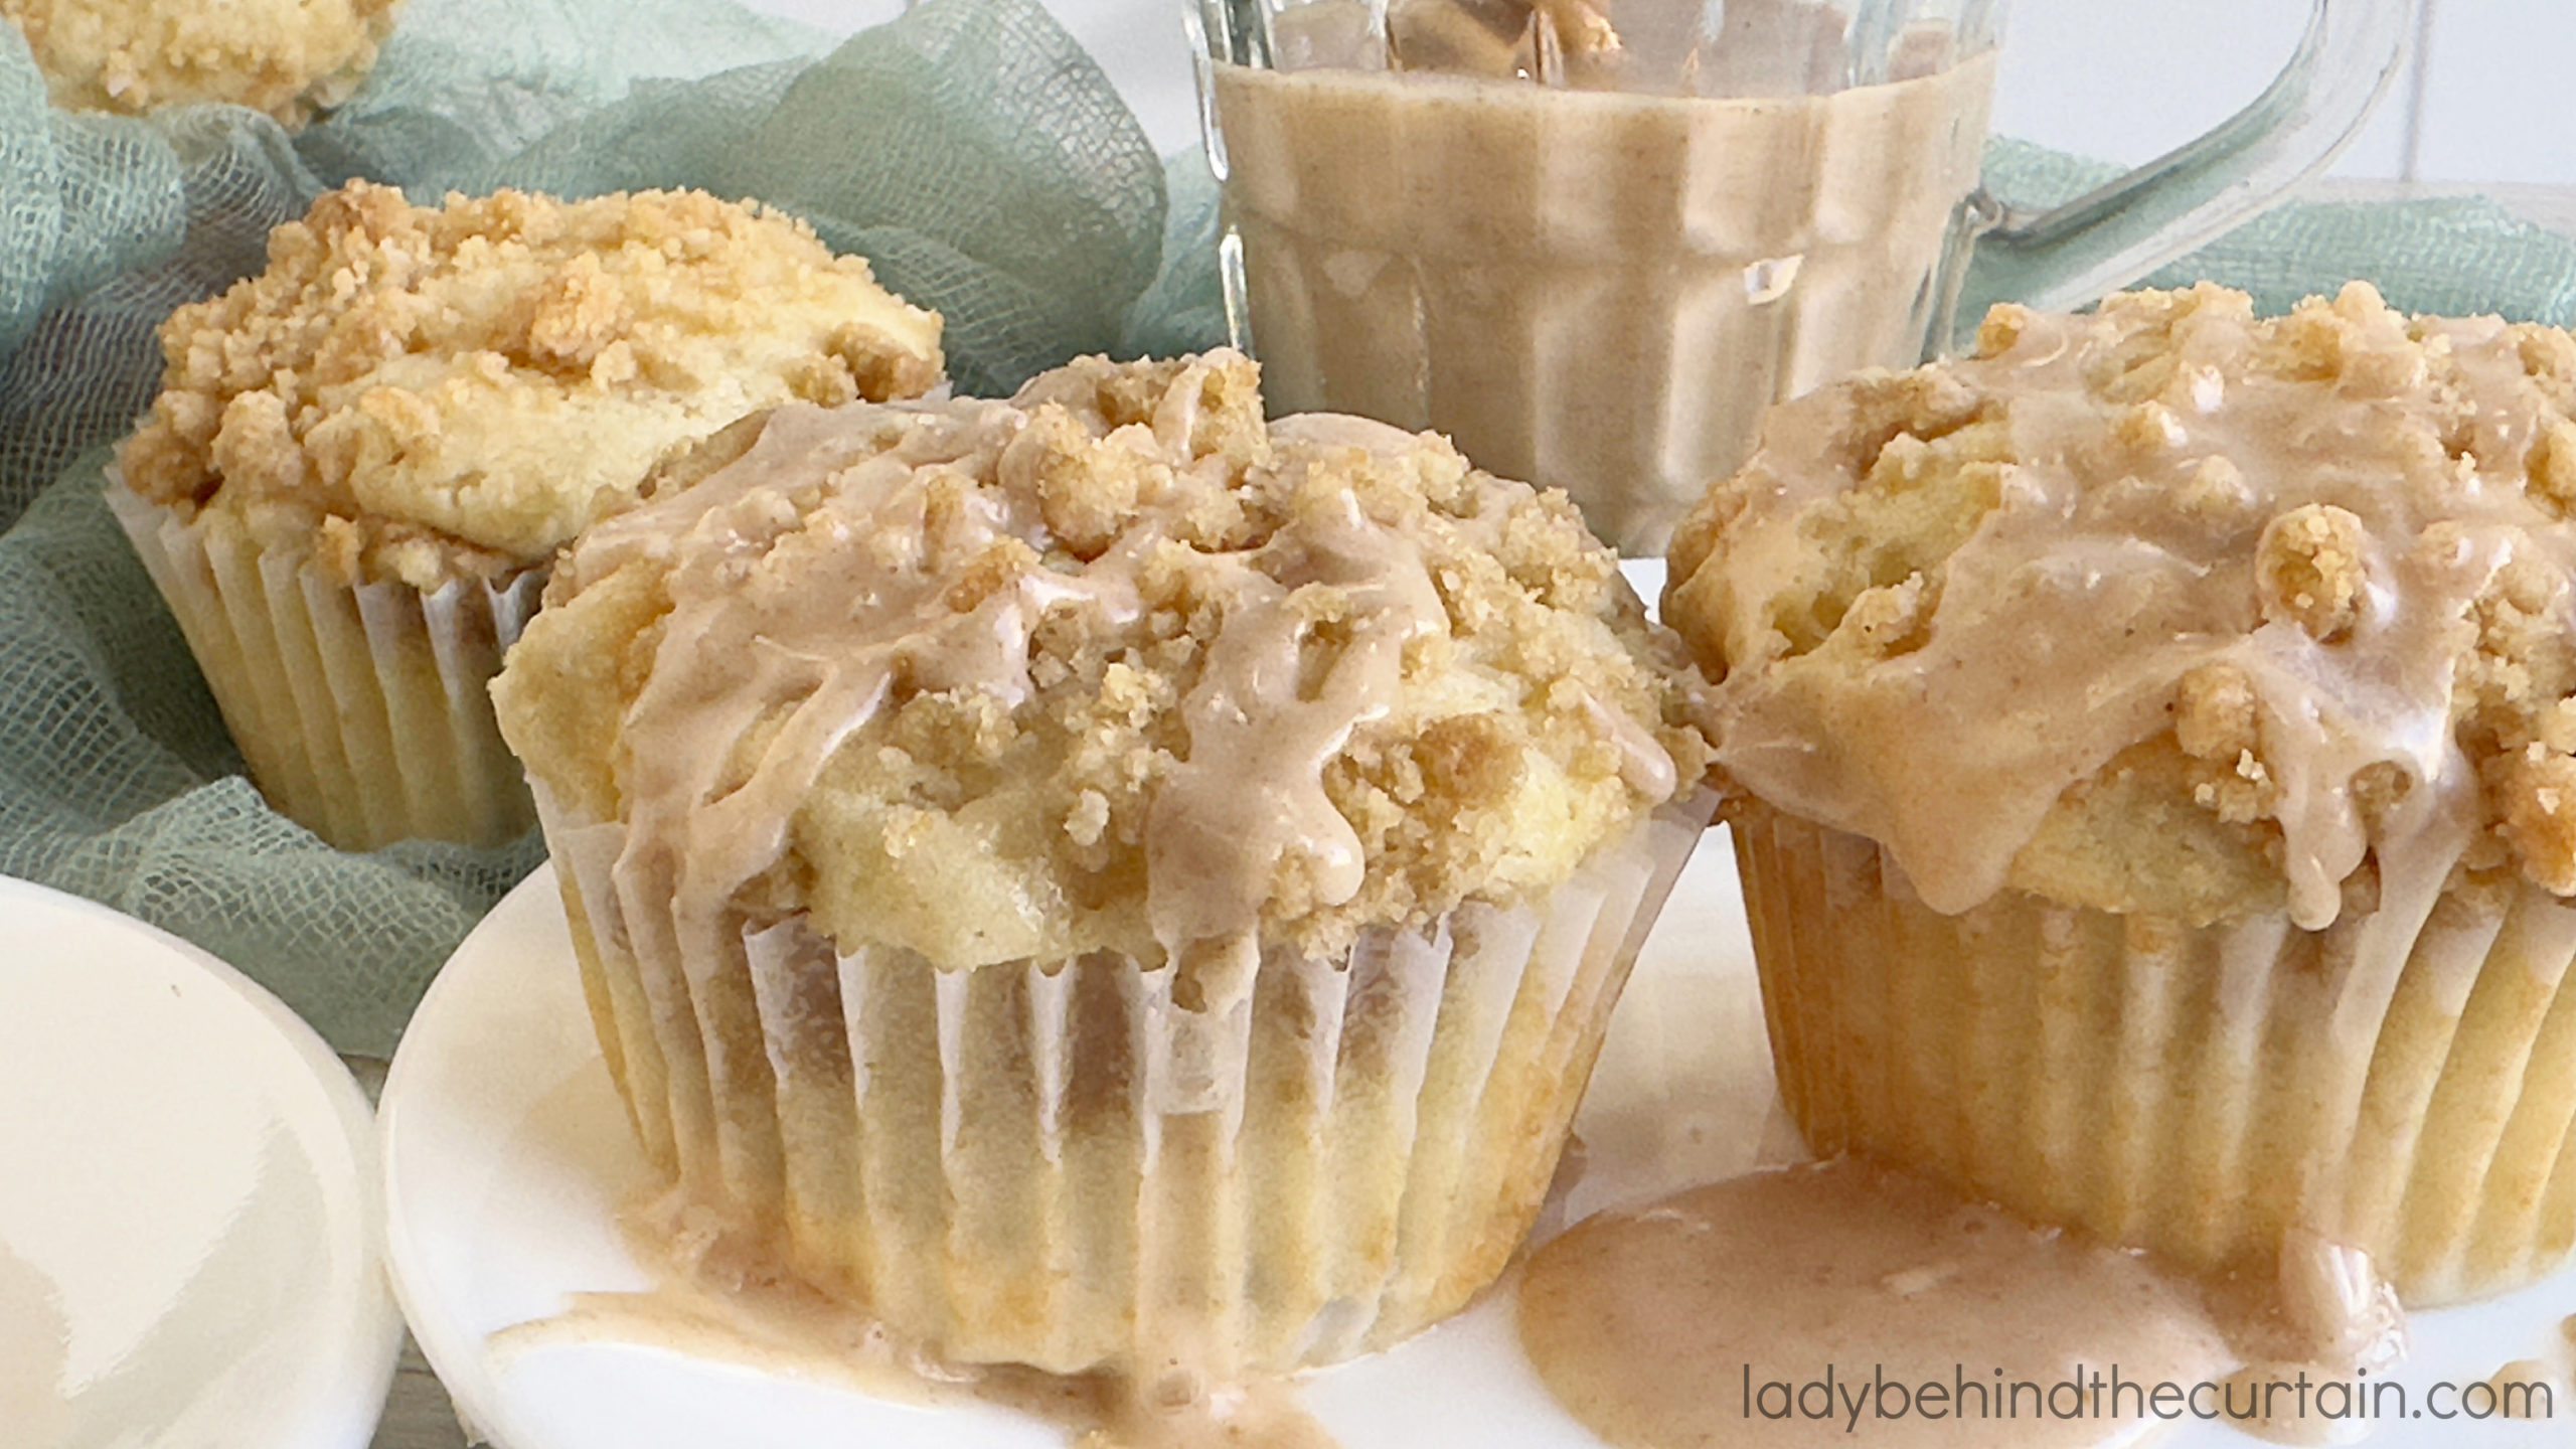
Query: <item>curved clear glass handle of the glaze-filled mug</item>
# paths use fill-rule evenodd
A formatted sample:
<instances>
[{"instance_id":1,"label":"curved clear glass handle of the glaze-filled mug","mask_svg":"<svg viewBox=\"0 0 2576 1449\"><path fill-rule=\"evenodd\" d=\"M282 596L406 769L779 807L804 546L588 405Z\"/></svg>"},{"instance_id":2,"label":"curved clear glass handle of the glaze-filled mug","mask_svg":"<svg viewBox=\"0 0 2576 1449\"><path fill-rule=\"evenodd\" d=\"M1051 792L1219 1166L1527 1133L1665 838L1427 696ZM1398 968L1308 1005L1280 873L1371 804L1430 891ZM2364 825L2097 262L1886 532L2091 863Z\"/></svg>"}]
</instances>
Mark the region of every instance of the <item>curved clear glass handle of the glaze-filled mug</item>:
<instances>
[{"instance_id":1,"label":"curved clear glass handle of the glaze-filled mug","mask_svg":"<svg viewBox=\"0 0 2576 1449\"><path fill-rule=\"evenodd\" d=\"M2262 214L2331 162L2406 64L2424 0L2316 0L2290 64L2215 131L2063 206L2025 214L1978 196L1958 325L1994 302L2081 307ZM1942 338L1932 338L1935 348Z\"/></svg>"}]
</instances>

